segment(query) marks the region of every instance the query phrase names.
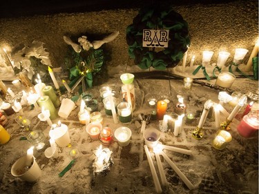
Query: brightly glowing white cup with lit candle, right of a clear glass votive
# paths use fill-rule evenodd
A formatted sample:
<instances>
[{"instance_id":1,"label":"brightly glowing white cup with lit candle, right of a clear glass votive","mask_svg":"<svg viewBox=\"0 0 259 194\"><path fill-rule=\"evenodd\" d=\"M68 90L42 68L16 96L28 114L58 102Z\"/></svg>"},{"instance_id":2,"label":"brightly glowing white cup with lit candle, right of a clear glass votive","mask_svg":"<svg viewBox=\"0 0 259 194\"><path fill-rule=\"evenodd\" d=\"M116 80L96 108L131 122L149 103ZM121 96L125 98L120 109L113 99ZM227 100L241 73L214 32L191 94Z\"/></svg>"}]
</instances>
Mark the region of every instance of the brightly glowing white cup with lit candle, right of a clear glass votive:
<instances>
[{"instance_id":1,"label":"brightly glowing white cup with lit candle, right of a clear glass votive","mask_svg":"<svg viewBox=\"0 0 259 194\"><path fill-rule=\"evenodd\" d=\"M61 122L52 125L49 135L50 138L55 139L55 142L61 148L64 148L70 144L68 126L61 124Z\"/></svg>"}]
</instances>

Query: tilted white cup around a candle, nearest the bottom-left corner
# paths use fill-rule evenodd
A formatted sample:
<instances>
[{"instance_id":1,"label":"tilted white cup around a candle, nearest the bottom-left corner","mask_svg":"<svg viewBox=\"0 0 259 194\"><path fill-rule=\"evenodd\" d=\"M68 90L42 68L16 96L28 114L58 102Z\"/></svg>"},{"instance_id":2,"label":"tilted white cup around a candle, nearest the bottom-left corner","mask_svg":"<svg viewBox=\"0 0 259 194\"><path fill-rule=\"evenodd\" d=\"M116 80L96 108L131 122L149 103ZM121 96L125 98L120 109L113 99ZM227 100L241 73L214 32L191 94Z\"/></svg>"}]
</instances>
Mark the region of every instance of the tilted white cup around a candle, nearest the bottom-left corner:
<instances>
[{"instance_id":1,"label":"tilted white cup around a candle, nearest the bottom-left corner","mask_svg":"<svg viewBox=\"0 0 259 194\"><path fill-rule=\"evenodd\" d=\"M25 166L26 159L27 159L26 155L17 159L15 164L12 165L11 174L14 177L19 177L22 180L25 180L27 182L35 182L41 176L41 168L39 168L39 165L37 164L35 157L33 157L32 166L30 166L28 171L22 172L23 168L26 167Z\"/></svg>"}]
</instances>

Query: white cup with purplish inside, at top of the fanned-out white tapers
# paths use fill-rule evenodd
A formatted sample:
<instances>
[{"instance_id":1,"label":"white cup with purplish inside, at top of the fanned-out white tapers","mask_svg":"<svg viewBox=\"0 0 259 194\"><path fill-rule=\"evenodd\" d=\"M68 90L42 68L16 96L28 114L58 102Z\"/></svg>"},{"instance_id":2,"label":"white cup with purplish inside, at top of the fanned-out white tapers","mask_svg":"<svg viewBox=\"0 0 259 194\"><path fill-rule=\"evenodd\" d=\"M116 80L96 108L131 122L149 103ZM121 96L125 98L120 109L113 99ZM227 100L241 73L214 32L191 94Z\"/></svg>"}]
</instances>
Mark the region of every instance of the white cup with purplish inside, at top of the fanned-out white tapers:
<instances>
[{"instance_id":1,"label":"white cup with purplish inside, at top of the fanned-out white tapers","mask_svg":"<svg viewBox=\"0 0 259 194\"><path fill-rule=\"evenodd\" d=\"M148 146L148 148L155 147L160 139L160 135L159 130L155 128L146 128L143 134L146 146Z\"/></svg>"}]
</instances>

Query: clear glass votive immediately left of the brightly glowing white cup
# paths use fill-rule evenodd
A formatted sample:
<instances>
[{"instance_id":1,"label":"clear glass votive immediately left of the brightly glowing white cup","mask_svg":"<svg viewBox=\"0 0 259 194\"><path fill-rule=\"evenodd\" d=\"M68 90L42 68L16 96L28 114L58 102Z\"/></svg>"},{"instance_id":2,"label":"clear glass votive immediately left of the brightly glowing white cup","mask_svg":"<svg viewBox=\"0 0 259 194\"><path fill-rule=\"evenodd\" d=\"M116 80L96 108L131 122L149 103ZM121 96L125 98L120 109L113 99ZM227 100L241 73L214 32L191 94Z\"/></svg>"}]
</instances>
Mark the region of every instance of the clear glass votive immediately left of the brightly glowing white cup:
<instances>
[{"instance_id":1,"label":"clear glass votive immediately left of the brightly glowing white cup","mask_svg":"<svg viewBox=\"0 0 259 194\"><path fill-rule=\"evenodd\" d=\"M32 146L35 146L38 151L42 151L44 148L46 148L46 137L41 130L32 130L32 132L29 133L27 139L28 142L30 142Z\"/></svg>"}]
</instances>

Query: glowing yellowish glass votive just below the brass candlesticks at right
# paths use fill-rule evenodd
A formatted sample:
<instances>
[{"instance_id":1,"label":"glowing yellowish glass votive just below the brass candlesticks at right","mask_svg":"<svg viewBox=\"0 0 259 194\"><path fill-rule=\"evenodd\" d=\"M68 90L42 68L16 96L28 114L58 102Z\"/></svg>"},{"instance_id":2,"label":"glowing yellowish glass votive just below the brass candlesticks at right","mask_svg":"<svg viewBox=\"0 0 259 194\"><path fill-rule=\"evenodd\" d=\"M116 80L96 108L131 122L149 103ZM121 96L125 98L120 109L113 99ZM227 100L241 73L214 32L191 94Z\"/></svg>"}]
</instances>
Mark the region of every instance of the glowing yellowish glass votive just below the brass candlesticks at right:
<instances>
[{"instance_id":1,"label":"glowing yellowish glass votive just below the brass candlesticks at right","mask_svg":"<svg viewBox=\"0 0 259 194\"><path fill-rule=\"evenodd\" d=\"M232 136L227 130L219 130L212 141L212 146L218 150L223 150L231 140Z\"/></svg>"}]
</instances>

